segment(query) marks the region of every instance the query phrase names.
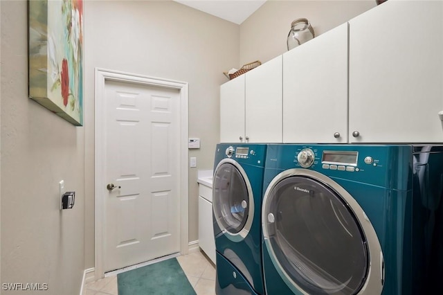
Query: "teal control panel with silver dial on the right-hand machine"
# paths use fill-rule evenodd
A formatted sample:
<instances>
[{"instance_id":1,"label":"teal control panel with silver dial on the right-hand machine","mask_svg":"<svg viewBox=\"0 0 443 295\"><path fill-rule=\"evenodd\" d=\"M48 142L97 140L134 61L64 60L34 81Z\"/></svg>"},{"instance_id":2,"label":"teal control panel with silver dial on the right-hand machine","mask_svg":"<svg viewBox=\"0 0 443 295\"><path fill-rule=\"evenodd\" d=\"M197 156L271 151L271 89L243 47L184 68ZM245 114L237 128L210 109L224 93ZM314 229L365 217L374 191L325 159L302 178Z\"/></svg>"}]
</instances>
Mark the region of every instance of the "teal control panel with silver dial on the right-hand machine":
<instances>
[{"instance_id":1,"label":"teal control panel with silver dial on the right-hand machine","mask_svg":"<svg viewBox=\"0 0 443 295\"><path fill-rule=\"evenodd\" d=\"M413 167L412 148L381 144L269 144L266 169L309 169L334 179L403 189L408 184L404 175Z\"/></svg>"}]
</instances>

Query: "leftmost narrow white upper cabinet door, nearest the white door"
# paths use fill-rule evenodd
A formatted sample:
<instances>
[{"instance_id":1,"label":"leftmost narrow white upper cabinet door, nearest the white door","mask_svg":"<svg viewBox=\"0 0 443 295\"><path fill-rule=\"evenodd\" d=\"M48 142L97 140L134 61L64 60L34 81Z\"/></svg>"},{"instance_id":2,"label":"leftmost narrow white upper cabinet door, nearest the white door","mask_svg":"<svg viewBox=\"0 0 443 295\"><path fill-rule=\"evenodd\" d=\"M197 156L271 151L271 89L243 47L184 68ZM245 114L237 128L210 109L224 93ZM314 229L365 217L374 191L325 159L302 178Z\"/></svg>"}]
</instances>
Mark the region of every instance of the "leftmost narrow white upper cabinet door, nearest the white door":
<instances>
[{"instance_id":1,"label":"leftmost narrow white upper cabinet door, nearest the white door","mask_svg":"<svg viewBox=\"0 0 443 295\"><path fill-rule=\"evenodd\" d=\"M244 140L244 80L240 75L220 86L221 143Z\"/></svg>"}]
</instances>

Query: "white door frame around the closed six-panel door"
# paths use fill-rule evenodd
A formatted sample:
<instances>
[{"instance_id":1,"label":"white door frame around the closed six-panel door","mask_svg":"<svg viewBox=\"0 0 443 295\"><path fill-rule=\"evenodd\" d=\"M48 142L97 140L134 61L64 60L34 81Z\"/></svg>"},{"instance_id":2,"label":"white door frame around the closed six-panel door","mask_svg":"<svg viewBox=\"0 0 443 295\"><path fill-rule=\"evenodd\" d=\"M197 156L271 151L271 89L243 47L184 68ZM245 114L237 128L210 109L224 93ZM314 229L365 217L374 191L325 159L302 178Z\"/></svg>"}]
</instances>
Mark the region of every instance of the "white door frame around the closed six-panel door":
<instances>
[{"instance_id":1,"label":"white door frame around the closed six-panel door","mask_svg":"<svg viewBox=\"0 0 443 295\"><path fill-rule=\"evenodd\" d=\"M146 86L163 87L166 89L179 90L179 128L180 128L180 253L188 253L188 82L152 78L146 75L124 73L108 69L95 69L95 275L96 280L105 276L104 271L104 222L105 202L102 185L105 179L105 82L118 81L142 84Z\"/></svg>"}]
</instances>

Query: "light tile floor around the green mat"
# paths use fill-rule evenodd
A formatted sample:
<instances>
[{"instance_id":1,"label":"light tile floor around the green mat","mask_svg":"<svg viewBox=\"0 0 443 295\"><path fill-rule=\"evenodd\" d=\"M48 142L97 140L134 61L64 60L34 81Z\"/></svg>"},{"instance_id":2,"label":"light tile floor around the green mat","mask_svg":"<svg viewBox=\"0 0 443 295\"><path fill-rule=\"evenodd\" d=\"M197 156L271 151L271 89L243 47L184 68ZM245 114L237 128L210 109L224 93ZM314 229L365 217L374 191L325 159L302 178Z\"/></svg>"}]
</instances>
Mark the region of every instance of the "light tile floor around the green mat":
<instances>
[{"instance_id":1,"label":"light tile floor around the green mat","mask_svg":"<svg viewBox=\"0 0 443 295\"><path fill-rule=\"evenodd\" d=\"M177 260L197 295L215 295L215 266L204 253L196 251ZM84 295L118 295L117 275L87 284Z\"/></svg>"}]
</instances>

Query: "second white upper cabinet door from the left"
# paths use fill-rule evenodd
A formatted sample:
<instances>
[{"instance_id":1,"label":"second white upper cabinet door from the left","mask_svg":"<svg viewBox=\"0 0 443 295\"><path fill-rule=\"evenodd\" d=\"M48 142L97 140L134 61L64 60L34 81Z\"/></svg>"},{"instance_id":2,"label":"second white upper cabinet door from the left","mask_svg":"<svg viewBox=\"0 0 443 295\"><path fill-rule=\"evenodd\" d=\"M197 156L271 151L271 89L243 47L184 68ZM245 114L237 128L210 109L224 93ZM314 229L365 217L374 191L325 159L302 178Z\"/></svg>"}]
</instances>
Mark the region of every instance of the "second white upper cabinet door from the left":
<instances>
[{"instance_id":1,"label":"second white upper cabinet door from the left","mask_svg":"<svg viewBox=\"0 0 443 295\"><path fill-rule=\"evenodd\" d=\"M282 142L282 56L246 75L245 135L248 142Z\"/></svg>"}]
</instances>

